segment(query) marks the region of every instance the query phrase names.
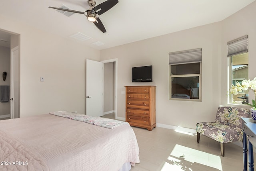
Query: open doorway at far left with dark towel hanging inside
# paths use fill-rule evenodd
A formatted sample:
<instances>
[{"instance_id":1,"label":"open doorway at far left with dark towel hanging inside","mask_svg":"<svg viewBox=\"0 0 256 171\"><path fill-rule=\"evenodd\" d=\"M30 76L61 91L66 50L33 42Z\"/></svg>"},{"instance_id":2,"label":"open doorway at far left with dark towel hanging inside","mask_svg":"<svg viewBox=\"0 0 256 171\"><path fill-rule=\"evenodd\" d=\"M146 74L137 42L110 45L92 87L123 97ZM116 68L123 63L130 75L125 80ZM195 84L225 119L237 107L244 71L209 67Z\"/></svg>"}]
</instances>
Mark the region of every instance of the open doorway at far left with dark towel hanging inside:
<instances>
[{"instance_id":1,"label":"open doorway at far left with dark towel hanging inside","mask_svg":"<svg viewBox=\"0 0 256 171\"><path fill-rule=\"evenodd\" d=\"M20 117L19 39L20 35L0 29L0 120Z\"/></svg>"}]
</instances>

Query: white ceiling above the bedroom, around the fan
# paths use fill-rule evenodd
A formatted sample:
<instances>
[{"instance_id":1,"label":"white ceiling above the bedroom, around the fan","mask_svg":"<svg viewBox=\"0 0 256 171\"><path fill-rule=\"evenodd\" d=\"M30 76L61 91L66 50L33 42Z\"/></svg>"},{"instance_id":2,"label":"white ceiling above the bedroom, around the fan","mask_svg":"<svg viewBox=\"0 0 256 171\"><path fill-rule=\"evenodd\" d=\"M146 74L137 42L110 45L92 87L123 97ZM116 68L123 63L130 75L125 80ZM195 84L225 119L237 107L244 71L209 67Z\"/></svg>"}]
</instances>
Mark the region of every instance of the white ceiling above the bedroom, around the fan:
<instances>
[{"instance_id":1,"label":"white ceiling above the bedroom, around the fan","mask_svg":"<svg viewBox=\"0 0 256 171\"><path fill-rule=\"evenodd\" d=\"M104 1L96 0L96 5ZM70 35L80 32L92 38L81 43L96 49L106 49L218 22L254 1L119 0L116 6L99 16L106 33L102 33L83 14L67 17L48 8L64 4L72 10L86 11L89 9L87 0L1 0L0 15L68 39ZM3 39L1 36L0 31L0 39ZM97 41L104 45L92 44Z\"/></svg>"}]
</instances>

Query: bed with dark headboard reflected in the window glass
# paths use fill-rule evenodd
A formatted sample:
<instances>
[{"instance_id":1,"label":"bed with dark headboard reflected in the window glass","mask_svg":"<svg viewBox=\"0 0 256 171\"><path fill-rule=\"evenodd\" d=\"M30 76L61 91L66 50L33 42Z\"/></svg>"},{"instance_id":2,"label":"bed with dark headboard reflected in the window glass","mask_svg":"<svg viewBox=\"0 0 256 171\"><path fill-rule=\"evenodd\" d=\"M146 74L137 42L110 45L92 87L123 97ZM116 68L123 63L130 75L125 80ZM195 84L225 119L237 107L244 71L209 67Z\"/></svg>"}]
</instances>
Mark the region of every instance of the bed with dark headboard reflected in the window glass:
<instances>
[{"instance_id":1,"label":"bed with dark headboard reflected in the window glass","mask_svg":"<svg viewBox=\"0 0 256 171\"><path fill-rule=\"evenodd\" d=\"M172 98L192 98L192 90L182 85L172 83Z\"/></svg>"}]
</instances>

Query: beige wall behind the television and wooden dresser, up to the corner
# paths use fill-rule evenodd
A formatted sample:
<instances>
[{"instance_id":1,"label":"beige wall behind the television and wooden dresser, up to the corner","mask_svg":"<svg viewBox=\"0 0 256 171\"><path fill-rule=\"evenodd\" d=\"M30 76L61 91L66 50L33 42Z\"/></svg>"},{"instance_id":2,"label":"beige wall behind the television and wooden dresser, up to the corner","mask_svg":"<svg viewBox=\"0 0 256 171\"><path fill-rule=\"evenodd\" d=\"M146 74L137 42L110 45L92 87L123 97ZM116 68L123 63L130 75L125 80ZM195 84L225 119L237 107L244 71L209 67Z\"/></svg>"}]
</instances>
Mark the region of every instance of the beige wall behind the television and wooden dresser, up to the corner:
<instances>
[{"instance_id":1,"label":"beige wall behind the television and wooden dresser, up to the corner","mask_svg":"<svg viewBox=\"0 0 256 171\"><path fill-rule=\"evenodd\" d=\"M156 122L194 128L196 122L214 121L220 102L221 23L209 24L168 35L100 51L100 60L118 58L118 116L125 117L125 85L156 85ZM202 102L168 100L168 53L202 47ZM153 65L152 83L132 83L131 68ZM216 95L217 94L217 95Z\"/></svg>"}]
</instances>

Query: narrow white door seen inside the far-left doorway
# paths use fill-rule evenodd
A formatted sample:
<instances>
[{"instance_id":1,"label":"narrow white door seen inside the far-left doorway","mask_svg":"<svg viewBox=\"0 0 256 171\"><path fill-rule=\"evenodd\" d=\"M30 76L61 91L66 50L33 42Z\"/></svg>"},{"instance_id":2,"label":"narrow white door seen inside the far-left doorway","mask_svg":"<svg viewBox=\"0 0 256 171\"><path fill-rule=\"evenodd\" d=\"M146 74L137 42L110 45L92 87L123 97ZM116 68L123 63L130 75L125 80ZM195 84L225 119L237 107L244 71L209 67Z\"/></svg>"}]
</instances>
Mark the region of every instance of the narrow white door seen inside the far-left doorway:
<instances>
[{"instance_id":1,"label":"narrow white door seen inside the far-left doorway","mask_svg":"<svg viewBox=\"0 0 256 171\"><path fill-rule=\"evenodd\" d=\"M11 119L19 118L19 47L11 49L11 86L10 103Z\"/></svg>"}]
</instances>

